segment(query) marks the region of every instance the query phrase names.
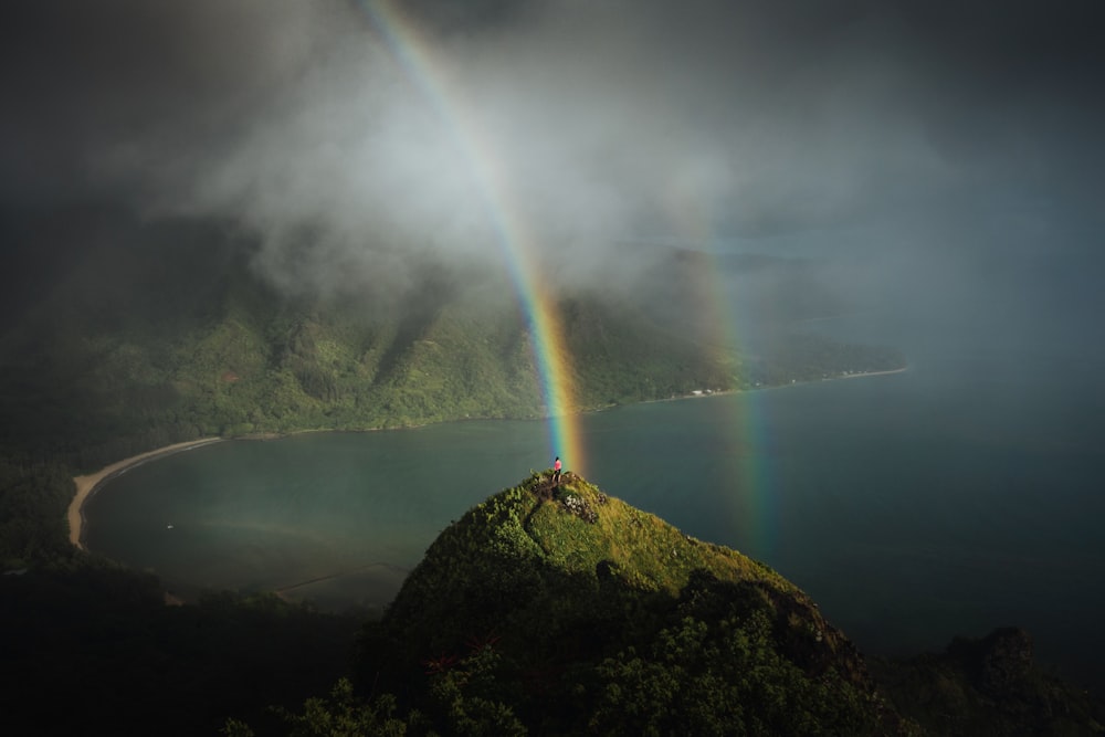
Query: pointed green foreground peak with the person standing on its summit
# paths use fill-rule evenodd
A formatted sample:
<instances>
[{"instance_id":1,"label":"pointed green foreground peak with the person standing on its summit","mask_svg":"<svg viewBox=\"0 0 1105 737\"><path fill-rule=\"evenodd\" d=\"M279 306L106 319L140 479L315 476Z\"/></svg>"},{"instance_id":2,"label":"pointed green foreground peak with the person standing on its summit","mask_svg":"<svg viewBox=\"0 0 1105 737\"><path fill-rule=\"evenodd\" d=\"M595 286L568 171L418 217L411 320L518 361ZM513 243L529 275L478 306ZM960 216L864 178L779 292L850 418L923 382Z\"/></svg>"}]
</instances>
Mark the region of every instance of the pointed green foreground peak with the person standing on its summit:
<instances>
[{"instance_id":1,"label":"pointed green foreground peak with the person standing on its summit","mask_svg":"<svg viewBox=\"0 0 1105 737\"><path fill-rule=\"evenodd\" d=\"M444 729L492 704L557 734L907 731L793 585L571 474L534 474L444 530L359 672Z\"/></svg>"}]
</instances>

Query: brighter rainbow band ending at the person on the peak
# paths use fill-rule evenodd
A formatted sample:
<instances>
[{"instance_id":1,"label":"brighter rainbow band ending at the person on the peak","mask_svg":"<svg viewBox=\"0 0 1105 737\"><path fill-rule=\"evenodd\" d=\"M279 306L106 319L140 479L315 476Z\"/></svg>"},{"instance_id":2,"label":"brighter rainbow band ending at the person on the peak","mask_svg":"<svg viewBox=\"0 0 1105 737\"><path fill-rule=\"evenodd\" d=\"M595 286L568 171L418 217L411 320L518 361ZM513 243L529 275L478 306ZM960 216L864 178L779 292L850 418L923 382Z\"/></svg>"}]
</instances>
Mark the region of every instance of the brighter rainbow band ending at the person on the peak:
<instances>
[{"instance_id":1,"label":"brighter rainbow band ending at the person on the peak","mask_svg":"<svg viewBox=\"0 0 1105 737\"><path fill-rule=\"evenodd\" d=\"M548 465L551 465L554 455L559 455L565 468L583 473L586 457L571 355L566 345L556 301L539 278L537 239L519 217L522 210L511 201L497 150L482 135L475 118L466 114L459 96L451 94L444 66L397 3L388 0L360 0L357 4L383 36L410 80L434 106L465 159L487 215L494 224L498 246L528 324L530 347L548 422Z\"/></svg>"}]
</instances>

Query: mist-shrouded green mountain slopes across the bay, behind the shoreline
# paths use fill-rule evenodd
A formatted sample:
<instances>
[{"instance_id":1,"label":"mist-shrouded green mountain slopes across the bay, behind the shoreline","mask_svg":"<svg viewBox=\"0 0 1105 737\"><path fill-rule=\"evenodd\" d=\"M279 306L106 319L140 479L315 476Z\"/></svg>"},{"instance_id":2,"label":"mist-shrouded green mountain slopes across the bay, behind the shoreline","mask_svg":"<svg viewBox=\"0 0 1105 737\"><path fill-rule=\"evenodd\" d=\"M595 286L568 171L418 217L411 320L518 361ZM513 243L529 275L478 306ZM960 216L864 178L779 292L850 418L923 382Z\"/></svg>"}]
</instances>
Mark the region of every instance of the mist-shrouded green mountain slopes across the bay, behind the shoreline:
<instances>
[{"instance_id":1,"label":"mist-shrouded green mountain slopes across the bay, behind the shoreline","mask_svg":"<svg viewBox=\"0 0 1105 737\"><path fill-rule=\"evenodd\" d=\"M257 244L218 223L96 211L76 222L8 234L17 253L46 239L70 257L4 274L0 453L86 471L210 435L546 412L505 273L427 263L401 287L367 275L357 288L277 288ZM576 410L904 366L892 349L802 335L741 355L720 343L724 316L702 309L713 264L650 259L633 288L556 285ZM793 288L813 292L809 278Z\"/></svg>"}]
</instances>

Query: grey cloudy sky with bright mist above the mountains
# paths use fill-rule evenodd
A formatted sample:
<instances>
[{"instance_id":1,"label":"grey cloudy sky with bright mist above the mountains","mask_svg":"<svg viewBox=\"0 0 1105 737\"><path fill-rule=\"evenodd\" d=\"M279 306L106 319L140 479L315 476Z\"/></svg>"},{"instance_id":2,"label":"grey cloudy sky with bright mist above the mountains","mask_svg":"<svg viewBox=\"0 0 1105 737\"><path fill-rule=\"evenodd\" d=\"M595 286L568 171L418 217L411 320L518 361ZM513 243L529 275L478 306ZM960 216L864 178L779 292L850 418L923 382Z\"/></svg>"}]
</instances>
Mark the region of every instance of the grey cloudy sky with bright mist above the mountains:
<instances>
[{"instance_id":1,"label":"grey cloudy sky with bright mist above the mountains","mask_svg":"<svg viewBox=\"0 0 1105 737\"><path fill-rule=\"evenodd\" d=\"M6 209L220 218L285 283L501 257L488 207L561 264L1101 245L1094 0L400 3L421 70L371 4L4 3Z\"/></svg>"}]
</instances>

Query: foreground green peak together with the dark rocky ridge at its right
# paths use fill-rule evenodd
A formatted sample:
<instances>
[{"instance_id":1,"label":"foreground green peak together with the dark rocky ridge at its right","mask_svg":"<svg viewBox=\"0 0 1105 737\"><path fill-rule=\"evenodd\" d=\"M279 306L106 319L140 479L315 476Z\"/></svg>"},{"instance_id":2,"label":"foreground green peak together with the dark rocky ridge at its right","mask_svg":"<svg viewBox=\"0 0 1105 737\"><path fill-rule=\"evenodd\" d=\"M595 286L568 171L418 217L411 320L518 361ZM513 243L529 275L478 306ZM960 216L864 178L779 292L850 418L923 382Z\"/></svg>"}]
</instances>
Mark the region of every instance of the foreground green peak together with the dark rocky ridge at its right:
<instances>
[{"instance_id":1,"label":"foreground green peak together with the dark rocky ridge at its right","mask_svg":"<svg viewBox=\"0 0 1105 737\"><path fill-rule=\"evenodd\" d=\"M550 472L443 530L295 735L1102 735L1028 633L866 659L767 566ZM231 720L229 733L252 734Z\"/></svg>"}]
</instances>

